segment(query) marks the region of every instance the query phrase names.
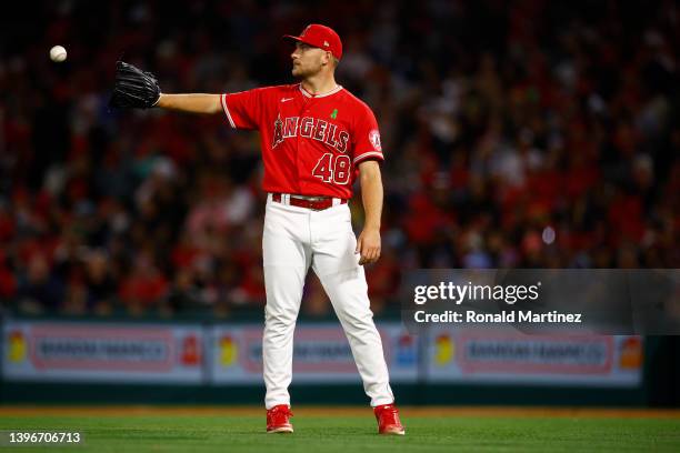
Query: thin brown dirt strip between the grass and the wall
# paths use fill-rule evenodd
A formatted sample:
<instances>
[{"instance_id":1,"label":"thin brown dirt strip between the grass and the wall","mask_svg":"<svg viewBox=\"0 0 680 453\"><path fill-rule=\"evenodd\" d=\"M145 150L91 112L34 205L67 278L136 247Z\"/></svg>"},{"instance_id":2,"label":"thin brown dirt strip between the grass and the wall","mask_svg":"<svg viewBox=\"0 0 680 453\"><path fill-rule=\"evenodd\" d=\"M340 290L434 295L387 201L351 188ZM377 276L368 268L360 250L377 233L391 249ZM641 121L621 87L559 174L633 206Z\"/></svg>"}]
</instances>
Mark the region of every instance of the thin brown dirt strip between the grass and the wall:
<instances>
[{"instance_id":1,"label":"thin brown dirt strip between the grass and the wall","mask_svg":"<svg viewBox=\"0 0 680 453\"><path fill-rule=\"evenodd\" d=\"M517 406L401 406L409 416L508 416L508 417L614 417L614 419L680 419L680 410L604 409L604 407L517 407ZM369 412L363 406L296 406L302 416L361 416ZM263 415L258 406L0 406L0 416L93 415L93 416L174 416L174 415Z\"/></svg>"}]
</instances>

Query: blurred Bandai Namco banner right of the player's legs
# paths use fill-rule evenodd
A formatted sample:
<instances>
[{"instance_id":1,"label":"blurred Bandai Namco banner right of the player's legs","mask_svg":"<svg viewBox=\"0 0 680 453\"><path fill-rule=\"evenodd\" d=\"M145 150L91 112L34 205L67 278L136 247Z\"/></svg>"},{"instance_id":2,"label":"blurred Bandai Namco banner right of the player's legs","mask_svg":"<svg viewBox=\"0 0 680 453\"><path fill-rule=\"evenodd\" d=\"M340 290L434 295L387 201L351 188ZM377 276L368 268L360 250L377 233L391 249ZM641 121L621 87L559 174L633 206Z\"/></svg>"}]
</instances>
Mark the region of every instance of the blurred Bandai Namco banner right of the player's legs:
<instances>
[{"instance_id":1,"label":"blurred Bandai Namco banner right of the player's legs","mask_svg":"<svg viewBox=\"0 0 680 453\"><path fill-rule=\"evenodd\" d=\"M637 386L643 340L636 335L528 335L431 329L426 380L438 383Z\"/></svg>"}]
</instances>

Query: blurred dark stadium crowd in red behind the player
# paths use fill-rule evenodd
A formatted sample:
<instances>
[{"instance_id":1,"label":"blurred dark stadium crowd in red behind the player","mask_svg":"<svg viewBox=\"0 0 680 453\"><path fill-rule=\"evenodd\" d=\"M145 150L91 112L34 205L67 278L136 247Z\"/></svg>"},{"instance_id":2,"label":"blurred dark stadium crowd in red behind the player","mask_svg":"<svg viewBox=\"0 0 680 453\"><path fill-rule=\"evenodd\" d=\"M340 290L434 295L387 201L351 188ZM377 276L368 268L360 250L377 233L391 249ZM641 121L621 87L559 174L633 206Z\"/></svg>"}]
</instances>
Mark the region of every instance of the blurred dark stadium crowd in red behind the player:
<instances>
[{"instance_id":1,"label":"blurred dark stadium crowd in red behind the player","mask_svg":"<svg viewBox=\"0 0 680 453\"><path fill-rule=\"evenodd\" d=\"M221 115L107 103L119 58L164 92L292 83L280 37L309 22L338 30L338 80L381 128L383 248L367 270L377 313L418 268L680 266L672 1L23 8L26 23L0 19L6 310L261 310L257 134ZM64 63L47 57L56 43ZM360 228L359 197L351 209ZM329 310L310 276L302 311Z\"/></svg>"}]
</instances>

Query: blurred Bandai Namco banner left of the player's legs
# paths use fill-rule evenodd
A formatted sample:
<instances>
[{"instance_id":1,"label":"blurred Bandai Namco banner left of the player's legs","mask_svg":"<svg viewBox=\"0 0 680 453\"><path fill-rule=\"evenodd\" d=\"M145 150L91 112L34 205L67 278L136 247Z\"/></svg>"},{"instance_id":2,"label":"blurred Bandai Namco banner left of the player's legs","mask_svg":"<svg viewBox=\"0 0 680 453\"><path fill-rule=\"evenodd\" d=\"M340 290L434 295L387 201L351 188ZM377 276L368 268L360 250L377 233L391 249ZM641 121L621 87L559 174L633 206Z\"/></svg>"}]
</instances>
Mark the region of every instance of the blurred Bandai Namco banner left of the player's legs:
<instances>
[{"instance_id":1,"label":"blurred Bandai Namco banner left of the player's legs","mask_svg":"<svg viewBox=\"0 0 680 453\"><path fill-rule=\"evenodd\" d=\"M9 381L201 382L199 325L7 321Z\"/></svg>"}]
</instances>

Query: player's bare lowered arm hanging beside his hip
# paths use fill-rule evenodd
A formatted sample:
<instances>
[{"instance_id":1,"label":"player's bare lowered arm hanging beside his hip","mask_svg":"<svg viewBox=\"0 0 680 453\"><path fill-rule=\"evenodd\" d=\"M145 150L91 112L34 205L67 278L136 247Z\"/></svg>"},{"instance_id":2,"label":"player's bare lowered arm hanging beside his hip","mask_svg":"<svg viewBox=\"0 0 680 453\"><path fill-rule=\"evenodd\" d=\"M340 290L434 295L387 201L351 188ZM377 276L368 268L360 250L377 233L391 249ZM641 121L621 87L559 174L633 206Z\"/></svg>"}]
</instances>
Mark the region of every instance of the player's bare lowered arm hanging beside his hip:
<instances>
[{"instance_id":1,"label":"player's bare lowered arm hanging beside his hip","mask_svg":"<svg viewBox=\"0 0 680 453\"><path fill-rule=\"evenodd\" d=\"M382 178L376 161L359 164L361 200L366 219L363 230L357 240L357 253L361 254L359 264L370 264L380 258L380 217L382 214Z\"/></svg>"}]
</instances>

